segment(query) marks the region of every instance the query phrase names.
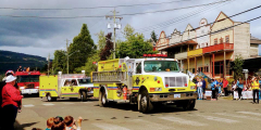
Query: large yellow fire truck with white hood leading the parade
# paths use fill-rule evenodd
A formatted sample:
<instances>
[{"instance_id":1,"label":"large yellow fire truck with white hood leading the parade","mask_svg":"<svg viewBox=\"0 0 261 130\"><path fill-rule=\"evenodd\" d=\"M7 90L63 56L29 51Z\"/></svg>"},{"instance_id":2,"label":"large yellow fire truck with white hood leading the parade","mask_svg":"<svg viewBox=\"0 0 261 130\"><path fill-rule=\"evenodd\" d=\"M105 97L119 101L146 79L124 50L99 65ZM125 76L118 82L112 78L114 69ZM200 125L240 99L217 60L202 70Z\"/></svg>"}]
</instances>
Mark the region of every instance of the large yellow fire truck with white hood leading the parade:
<instances>
[{"instance_id":1,"label":"large yellow fire truck with white hood leading the parade","mask_svg":"<svg viewBox=\"0 0 261 130\"><path fill-rule=\"evenodd\" d=\"M194 109L196 84L181 73L177 61L161 54L148 56L99 62L98 72L92 72L94 96L99 98L99 105L133 103L138 110L149 113L156 104L174 103Z\"/></svg>"}]
</instances>

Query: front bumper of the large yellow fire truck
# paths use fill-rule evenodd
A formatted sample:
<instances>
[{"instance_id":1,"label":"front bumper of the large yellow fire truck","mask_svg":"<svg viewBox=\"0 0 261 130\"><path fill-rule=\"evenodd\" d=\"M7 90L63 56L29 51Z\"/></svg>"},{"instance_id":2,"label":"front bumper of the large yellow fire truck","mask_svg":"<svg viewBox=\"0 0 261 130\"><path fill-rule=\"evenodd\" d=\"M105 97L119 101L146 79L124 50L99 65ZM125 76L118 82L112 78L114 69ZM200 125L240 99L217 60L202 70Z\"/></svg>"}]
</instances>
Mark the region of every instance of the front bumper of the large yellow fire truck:
<instances>
[{"instance_id":1,"label":"front bumper of the large yellow fire truck","mask_svg":"<svg viewBox=\"0 0 261 130\"><path fill-rule=\"evenodd\" d=\"M197 100L196 92L187 93L158 93L149 94L151 102L165 102L165 101L181 101L181 100Z\"/></svg>"}]
</instances>

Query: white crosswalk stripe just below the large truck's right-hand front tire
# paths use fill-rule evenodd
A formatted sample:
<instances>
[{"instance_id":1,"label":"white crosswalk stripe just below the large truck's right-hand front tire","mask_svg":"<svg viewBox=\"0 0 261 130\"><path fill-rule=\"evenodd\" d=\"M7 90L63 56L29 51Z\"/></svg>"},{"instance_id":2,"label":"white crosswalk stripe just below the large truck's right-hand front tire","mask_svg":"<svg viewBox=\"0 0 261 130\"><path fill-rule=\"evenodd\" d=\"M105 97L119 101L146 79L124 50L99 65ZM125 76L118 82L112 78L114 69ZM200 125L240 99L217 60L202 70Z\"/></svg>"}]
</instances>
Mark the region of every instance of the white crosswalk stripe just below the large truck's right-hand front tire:
<instances>
[{"instance_id":1,"label":"white crosswalk stripe just below the large truck's right-hand front tire","mask_svg":"<svg viewBox=\"0 0 261 130\"><path fill-rule=\"evenodd\" d=\"M208 126L208 125L202 123L202 122L191 121L191 120L182 119L182 118L177 118L177 117L159 117L159 118L164 119L164 120L169 120L169 121L172 121L172 122L177 122L177 123L181 123L181 125L189 125L189 126L197 126L197 127Z\"/></svg>"}]
</instances>

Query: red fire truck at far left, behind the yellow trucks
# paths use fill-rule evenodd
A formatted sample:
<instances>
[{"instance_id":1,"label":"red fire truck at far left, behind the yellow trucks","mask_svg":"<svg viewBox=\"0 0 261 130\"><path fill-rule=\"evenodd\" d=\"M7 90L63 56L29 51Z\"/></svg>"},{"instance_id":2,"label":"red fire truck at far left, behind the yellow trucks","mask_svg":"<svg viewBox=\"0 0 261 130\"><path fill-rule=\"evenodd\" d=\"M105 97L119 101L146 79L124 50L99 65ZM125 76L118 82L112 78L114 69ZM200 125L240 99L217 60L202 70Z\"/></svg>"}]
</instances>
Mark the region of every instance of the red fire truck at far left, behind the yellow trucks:
<instances>
[{"instance_id":1,"label":"red fire truck at far left, behind the yellow trucks","mask_svg":"<svg viewBox=\"0 0 261 130\"><path fill-rule=\"evenodd\" d=\"M16 72L15 76L22 94L39 93L40 72Z\"/></svg>"}]
</instances>

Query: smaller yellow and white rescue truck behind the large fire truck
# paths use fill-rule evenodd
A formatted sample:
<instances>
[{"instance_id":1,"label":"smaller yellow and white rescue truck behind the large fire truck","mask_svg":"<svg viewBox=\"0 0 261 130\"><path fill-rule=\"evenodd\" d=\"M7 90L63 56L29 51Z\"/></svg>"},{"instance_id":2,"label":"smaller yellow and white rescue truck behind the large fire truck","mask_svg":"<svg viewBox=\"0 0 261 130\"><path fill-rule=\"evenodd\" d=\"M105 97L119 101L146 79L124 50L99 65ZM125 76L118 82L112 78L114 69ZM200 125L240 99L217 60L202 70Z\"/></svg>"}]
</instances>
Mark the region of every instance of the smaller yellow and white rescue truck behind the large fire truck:
<instances>
[{"instance_id":1,"label":"smaller yellow and white rescue truck behind the large fire truck","mask_svg":"<svg viewBox=\"0 0 261 130\"><path fill-rule=\"evenodd\" d=\"M86 101L94 95L94 83L85 74L40 76L39 96L48 101L64 98L79 98Z\"/></svg>"}]
</instances>

